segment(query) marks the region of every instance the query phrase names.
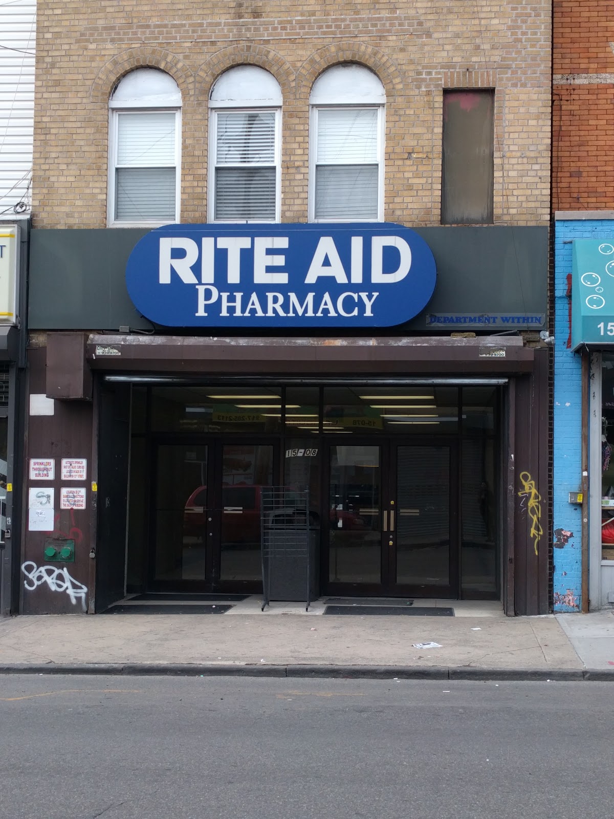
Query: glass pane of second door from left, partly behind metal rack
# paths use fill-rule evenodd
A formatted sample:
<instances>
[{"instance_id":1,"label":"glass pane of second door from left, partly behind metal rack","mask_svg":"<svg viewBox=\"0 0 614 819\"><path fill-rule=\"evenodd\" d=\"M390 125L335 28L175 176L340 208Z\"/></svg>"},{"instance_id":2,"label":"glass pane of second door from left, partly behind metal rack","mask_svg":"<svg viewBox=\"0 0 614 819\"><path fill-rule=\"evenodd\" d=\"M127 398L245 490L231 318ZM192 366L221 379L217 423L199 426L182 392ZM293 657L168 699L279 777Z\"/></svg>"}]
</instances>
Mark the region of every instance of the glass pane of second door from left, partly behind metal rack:
<instances>
[{"instance_id":1,"label":"glass pane of second door from left, partly behind metal rack","mask_svg":"<svg viewBox=\"0 0 614 819\"><path fill-rule=\"evenodd\" d=\"M260 581L260 488L273 484L273 444L222 446L222 581Z\"/></svg>"}]
</instances>

